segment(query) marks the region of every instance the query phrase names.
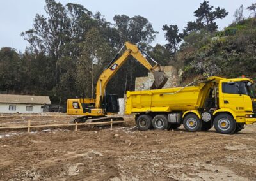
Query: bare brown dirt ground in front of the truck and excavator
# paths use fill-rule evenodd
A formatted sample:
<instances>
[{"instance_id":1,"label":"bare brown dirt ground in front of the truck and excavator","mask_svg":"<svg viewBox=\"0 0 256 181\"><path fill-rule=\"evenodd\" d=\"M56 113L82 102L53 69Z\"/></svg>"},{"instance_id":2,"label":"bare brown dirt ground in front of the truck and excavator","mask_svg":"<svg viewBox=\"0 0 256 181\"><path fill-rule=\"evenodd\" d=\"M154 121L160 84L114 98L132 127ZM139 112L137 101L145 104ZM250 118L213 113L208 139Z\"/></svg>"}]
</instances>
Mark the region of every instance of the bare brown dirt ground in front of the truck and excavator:
<instances>
[{"instance_id":1,"label":"bare brown dirt ground in front of the truck and excavator","mask_svg":"<svg viewBox=\"0 0 256 181\"><path fill-rule=\"evenodd\" d=\"M70 117L31 119L49 124ZM0 118L0 126L25 120ZM134 126L1 130L0 180L256 179L256 126L233 135Z\"/></svg>"}]
</instances>

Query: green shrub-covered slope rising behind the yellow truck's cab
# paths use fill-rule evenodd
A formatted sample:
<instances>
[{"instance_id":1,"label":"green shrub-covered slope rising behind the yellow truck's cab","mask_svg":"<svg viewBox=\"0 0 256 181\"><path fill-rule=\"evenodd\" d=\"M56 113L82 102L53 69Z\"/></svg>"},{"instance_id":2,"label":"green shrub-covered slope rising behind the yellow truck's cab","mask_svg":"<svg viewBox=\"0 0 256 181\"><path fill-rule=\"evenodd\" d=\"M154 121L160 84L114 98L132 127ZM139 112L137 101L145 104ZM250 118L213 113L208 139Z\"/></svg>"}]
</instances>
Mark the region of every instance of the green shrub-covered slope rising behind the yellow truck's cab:
<instances>
[{"instance_id":1,"label":"green shrub-covered slope rising behind the yellow truck's cab","mask_svg":"<svg viewBox=\"0 0 256 181\"><path fill-rule=\"evenodd\" d=\"M256 76L256 18L233 23L216 33L201 30L184 37L177 61L184 76Z\"/></svg>"}]
</instances>

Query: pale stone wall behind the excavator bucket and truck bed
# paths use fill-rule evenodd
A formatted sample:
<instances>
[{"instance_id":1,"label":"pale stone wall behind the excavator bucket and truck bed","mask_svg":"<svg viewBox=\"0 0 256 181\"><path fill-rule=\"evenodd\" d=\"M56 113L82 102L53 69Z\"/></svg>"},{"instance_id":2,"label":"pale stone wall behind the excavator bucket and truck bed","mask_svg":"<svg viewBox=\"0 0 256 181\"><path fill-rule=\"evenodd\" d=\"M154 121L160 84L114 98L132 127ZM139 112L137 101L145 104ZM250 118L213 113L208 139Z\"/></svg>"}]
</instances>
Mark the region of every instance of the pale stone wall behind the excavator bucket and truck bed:
<instances>
[{"instance_id":1,"label":"pale stone wall behind the excavator bucket and truck bed","mask_svg":"<svg viewBox=\"0 0 256 181\"><path fill-rule=\"evenodd\" d=\"M173 66L161 66L161 70L168 76L168 80L163 88L178 87L180 85L180 78L178 71ZM135 79L135 91L148 90L154 82L154 76L152 73L148 73L148 76L137 77Z\"/></svg>"}]
</instances>

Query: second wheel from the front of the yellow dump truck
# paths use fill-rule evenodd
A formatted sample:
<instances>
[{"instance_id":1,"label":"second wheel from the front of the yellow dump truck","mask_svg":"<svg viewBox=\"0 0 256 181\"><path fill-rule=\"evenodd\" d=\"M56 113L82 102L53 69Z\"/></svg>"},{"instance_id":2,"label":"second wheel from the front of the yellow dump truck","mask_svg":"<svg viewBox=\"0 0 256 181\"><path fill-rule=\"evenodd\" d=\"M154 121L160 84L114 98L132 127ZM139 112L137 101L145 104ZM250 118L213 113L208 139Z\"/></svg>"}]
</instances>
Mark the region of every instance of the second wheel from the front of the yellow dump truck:
<instances>
[{"instance_id":1,"label":"second wheel from the front of the yellow dump truck","mask_svg":"<svg viewBox=\"0 0 256 181\"><path fill-rule=\"evenodd\" d=\"M200 131L202 128L202 120L200 120L197 115L189 113L183 120L183 126L187 131Z\"/></svg>"}]
</instances>

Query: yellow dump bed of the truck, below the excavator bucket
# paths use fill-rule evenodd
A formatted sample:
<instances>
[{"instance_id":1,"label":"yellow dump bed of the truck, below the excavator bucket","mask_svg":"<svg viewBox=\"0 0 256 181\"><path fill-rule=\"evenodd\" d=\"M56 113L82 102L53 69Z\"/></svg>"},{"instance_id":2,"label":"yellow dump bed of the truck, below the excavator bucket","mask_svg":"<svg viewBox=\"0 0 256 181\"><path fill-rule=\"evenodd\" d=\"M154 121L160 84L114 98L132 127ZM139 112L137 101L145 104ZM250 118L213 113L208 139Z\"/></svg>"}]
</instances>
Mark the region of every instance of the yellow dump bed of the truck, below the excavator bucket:
<instances>
[{"instance_id":1,"label":"yellow dump bed of the truck, below the excavator bucket","mask_svg":"<svg viewBox=\"0 0 256 181\"><path fill-rule=\"evenodd\" d=\"M201 99L209 92L204 85L127 91L125 113L197 110L202 106Z\"/></svg>"}]
</instances>

